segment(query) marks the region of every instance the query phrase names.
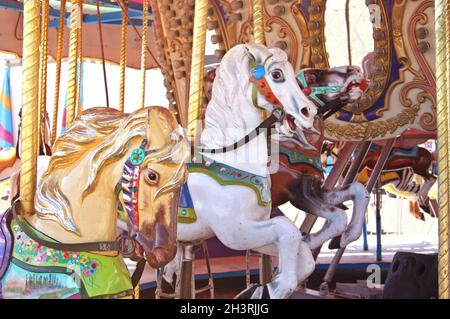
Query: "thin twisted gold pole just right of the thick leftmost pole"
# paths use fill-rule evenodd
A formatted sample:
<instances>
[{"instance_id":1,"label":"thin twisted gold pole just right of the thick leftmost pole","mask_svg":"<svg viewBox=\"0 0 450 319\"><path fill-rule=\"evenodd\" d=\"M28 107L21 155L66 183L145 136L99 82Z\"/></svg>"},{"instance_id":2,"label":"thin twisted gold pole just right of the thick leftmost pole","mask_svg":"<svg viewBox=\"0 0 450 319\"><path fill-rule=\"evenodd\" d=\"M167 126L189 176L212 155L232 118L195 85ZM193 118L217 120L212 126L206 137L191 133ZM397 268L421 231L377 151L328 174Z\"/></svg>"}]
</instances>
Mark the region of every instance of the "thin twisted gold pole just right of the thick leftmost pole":
<instances>
[{"instance_id":1,"label":"thin twisted gold pole just right of the thick leftmost pole","mask_svg":"<svg viewBox=\"0 0 450 319\"><path fill-rule=\"evenodd\" d=\"M42 0L42 17L41 17L41 54L39 57L39 133L38 142L42 138L43 125L45 125L44 117L47 110L47 57L48 57L48 21L49 21L49 0Z\"/></svg>"}]
</instances>

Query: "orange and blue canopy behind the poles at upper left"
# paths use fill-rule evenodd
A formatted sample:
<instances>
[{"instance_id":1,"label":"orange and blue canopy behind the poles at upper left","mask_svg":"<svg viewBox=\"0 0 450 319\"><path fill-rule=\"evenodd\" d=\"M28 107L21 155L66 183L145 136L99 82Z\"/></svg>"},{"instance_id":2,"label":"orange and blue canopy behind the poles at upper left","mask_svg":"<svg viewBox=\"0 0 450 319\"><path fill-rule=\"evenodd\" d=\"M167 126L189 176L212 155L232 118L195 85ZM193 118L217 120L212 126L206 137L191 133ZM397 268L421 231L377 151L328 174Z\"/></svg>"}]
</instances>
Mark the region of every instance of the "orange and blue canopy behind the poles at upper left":
<instances>
[{"instance_id":1,"label":"orange and blue canopy behind the poles at upper left","mask_svg":"<svg viewBox=\"0 0 450 319\"><path fill-rule=\"evenodd\" d=\"M56 56L57 27L59 25L60 1L50 0L50 30L49 30L49 55ZM22 56L23 39L23 3L16 0L0 0L0 21L2 29L0 32L0 51L14 53ZM140 68L141 59L141 25L142 25L142 1L130 0L128 16L127 37L127 66ZM67 1L65 13L65 32L63 57L68 55L69 47L69 19L70 1ZM117 2L100 0L100 19L102 22L102 33L104 41L105 59L112 63L120 61L120 28L122 21L121 7ZM149 10L149 26L153 16ZM136 29L133 27L136 27ZM138 34L139 32L139 34ZM155 41L153 32L148 32L148 47L155 52ZM83 1L83 57L90 59L101 59L100 33L98 27L98 15L96 1ZM154 57L147 57L147 68L158 67Z\"/></svg>"}]
</instances>

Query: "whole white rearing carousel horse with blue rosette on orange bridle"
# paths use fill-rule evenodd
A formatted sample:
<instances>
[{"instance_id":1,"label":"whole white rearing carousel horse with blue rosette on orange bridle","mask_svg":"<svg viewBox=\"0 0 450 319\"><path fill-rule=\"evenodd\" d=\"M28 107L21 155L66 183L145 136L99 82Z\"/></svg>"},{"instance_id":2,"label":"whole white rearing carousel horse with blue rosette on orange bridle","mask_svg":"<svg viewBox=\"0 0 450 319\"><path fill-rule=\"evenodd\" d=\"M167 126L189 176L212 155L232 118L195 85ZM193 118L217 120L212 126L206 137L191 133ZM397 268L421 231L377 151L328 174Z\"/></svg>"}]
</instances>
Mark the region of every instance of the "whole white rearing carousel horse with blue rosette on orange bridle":
<instances>
[{"instance_id":1,"label":"whole white rearing carousel horse with blue rosette on orange bridle","mask_svg":"<svg viewBox=\"0 0 450 319\"><path fill-rule=\"evenodd\" d=\"M260 290L271 298L287 298L315 263L295 224L285 216L270 218L267 138L254 135L237 148L226 147L254 131L261 123L261 109L282 109L285 116L276 129L288 136L312 129L317 113L282 50L237 45L216 72L201 134L203 163L189 167L187 185L195 217L178 224L177 239L193 242L217 236L231 249L278 256L278 273ZM169 269L176 264L174 260Z\"/></svg>"}]
</instances>

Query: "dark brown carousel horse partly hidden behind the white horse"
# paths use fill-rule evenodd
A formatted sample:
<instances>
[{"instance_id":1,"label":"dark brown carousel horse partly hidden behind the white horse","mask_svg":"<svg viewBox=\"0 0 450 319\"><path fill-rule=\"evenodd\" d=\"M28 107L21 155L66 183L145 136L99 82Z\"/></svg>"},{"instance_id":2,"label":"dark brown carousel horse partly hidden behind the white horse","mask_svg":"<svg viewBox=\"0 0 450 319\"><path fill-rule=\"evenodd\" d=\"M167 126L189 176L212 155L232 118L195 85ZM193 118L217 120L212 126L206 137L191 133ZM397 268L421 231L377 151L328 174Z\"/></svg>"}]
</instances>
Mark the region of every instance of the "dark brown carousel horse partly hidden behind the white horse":
<instances>
[{"instance_id":1,"label":"dark brown carousel horse partly hidden behind the white horse","mask_svg":"<svg viewBox=\"0 0 450 319\"><path fill-rule=\"evenodd\" d=\"M369 195L360 183L333 190L323 187L320 161L322 121L359 98L367 87L367 81L361 70L352 66L306 69L298 73L297 79L303 91L319 107L322 116L316 120L317 134L304 133L304 136L279 140L279 170L271 175L273 215L279 214L278 206L290 202L306 213L326 219L324 228L308 238L312 249L342 232L340 246L345 247L361 235ZM354 201L348 226L345 206L342 205L347 200Z\"/></svg>"}]
</instances>

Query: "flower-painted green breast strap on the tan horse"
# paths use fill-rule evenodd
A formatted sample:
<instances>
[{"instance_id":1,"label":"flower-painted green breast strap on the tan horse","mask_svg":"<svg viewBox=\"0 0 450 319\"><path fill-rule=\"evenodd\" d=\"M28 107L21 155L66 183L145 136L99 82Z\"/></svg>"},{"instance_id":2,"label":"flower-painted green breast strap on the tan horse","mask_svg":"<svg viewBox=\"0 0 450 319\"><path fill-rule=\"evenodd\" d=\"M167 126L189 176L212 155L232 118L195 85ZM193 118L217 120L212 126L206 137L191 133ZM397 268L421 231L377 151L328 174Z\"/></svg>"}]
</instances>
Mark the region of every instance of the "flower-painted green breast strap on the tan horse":
<instances>
[{"instance_id":1,"label":"flower-painted green breast strap on the tan horse","mask_svg":"<svg viewBox=\"0 0 450 319\"><path fill-rule=\"evenodd\" d=\"M38 238L56 242L31 226L24 226L29 227ZM27 265L26 271L39 268L38 272L51 272L52 268L56 267L66 269L69 274L75 272L83 283L87 297L90 298L117 295L132 290L127 266L120 255L103 256L90 252L52 249L28 237L15 221L12 221L11 229L14 235L13 257Z\"/></svg>"}]
</instances>

